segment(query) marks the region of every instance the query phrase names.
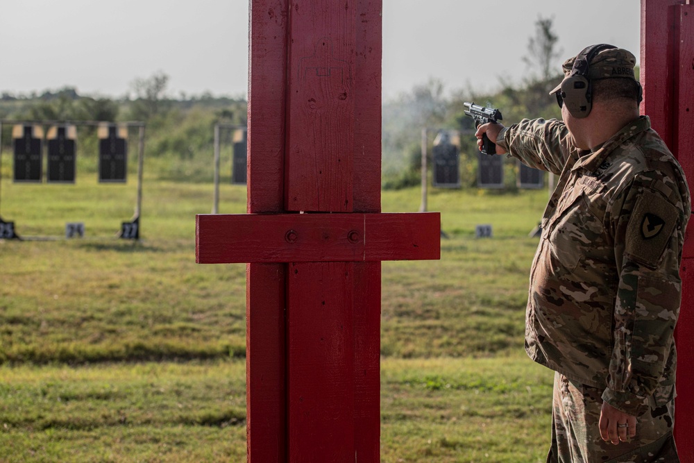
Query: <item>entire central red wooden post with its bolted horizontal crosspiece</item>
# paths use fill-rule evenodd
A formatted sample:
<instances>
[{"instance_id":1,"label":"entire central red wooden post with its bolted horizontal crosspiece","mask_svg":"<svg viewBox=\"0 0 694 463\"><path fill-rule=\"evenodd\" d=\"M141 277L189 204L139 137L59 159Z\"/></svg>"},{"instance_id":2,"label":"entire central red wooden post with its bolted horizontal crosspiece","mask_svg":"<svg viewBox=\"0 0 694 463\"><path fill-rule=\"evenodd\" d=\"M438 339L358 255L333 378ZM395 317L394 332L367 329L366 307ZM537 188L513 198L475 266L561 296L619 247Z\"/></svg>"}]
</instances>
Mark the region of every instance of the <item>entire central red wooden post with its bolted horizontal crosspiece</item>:
<instances>
[{"instance_id":1,"label":"entire central red wooden post with its bolted horizontal crosspiece","mask_svg":"<svg viewBox=\"0 0 694 463\"><path fill-rule=\"evenodd\" d=\"M438 259L438 213L380 213L381 0L251 0L248 214L198 215L247 267L248 460L380 461L380 261Z\"/></svg>"}]
</instances>

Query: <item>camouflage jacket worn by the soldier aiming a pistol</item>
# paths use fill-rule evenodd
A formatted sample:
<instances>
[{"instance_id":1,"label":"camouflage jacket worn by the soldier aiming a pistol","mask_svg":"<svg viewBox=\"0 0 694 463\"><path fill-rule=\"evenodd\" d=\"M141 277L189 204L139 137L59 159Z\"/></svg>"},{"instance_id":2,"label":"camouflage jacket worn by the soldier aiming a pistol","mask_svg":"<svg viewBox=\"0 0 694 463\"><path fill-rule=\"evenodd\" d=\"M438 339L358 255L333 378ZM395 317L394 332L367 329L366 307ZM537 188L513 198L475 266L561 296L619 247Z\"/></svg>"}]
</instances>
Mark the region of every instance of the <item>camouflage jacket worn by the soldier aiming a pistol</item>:
<instances>
[{"instance_id":1,"label":"camouflage jacket worn by the soldier aiming a pistol","mask_svg":"<svg viewBox=\"0 0 694 463\"><path fill-rule=\"evenodd\" d=\"M530 273L525 349L567 378L604 389L632 415L675 394L684 230L682 168L640 117L595 151L563 122L524 119L498 144L559 175Z\"/></svg>"}]
</instances>

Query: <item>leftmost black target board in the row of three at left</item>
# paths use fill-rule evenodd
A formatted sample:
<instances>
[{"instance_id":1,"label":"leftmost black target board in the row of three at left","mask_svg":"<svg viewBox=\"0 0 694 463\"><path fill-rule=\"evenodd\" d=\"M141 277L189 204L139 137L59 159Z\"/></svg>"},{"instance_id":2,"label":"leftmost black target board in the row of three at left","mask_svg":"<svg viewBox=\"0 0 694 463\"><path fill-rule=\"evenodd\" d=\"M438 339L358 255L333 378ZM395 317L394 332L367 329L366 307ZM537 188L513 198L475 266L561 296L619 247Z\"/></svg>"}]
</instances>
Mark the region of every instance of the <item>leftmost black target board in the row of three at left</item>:
<instances>
[{"instance_id":1,"label":"leftmost black target board in the row of three at left","mask_svg":"<svg viewBox=\"0 0 694 463\"><path fill-rule=\"evenodd\" d=\"M41 182L43 174L42 138L43 130L39 126L26 125L12 128L15 182Z\"/></svg>"}]
</instances>

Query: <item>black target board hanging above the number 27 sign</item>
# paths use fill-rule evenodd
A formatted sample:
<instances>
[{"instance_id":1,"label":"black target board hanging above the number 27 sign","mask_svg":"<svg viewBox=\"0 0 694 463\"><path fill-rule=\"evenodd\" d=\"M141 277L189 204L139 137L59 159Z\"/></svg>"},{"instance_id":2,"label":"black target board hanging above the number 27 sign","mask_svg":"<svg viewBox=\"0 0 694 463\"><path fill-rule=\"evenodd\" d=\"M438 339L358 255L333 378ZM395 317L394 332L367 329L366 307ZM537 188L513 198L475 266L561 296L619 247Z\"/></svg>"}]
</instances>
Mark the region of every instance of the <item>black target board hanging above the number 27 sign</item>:
<instances>
[{"instance_id":1,"label":"black target board hanging above the number 27 sign","mask_svg":"<svg viewBox=\"0 0 694 463\"><path fill-rule=\"evenodd\" d=\"M128 128L99 126L99 182L125 183L128 163Z\"/></svg>"}]
</instances>

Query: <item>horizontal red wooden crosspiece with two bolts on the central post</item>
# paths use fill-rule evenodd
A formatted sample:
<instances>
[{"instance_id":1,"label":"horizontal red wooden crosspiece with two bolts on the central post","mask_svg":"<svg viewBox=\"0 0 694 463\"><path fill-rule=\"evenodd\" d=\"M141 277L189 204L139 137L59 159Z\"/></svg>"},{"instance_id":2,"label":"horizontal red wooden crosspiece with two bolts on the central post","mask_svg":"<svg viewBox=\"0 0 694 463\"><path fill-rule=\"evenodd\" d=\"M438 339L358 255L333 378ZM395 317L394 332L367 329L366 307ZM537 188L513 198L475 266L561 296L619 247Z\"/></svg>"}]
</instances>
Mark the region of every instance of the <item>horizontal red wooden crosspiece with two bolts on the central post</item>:
<instances>
[{"instance_id":1,"label":"horizontal red wooden crosspiece with two bolts on the central post","mask_svg":"<svg viewBox=\"0 0 694 463\"><path fill-rule=\"evenodd\" d=\"M198 214L196 262L378 262L441 258L439 212Z\"/></svg>"}]
</instances>

